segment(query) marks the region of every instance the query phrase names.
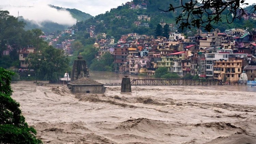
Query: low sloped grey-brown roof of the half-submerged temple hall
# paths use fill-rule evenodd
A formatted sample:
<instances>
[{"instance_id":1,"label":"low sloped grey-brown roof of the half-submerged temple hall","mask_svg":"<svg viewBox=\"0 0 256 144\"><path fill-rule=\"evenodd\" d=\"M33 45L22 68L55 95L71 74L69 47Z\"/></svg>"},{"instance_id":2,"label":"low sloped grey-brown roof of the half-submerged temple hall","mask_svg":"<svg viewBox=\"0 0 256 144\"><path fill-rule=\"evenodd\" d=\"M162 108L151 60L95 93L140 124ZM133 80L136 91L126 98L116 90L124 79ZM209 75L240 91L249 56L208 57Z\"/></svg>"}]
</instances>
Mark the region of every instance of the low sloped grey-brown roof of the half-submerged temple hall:
<instances>
[{"instance_id":1,"label":"low sloped grey-brown roof of the half-submerged temple hall","mask_svg":"<svg viewBox=\"0 0 256 144\"><path fill-rule=\"evenodd\" d=\"M99 83L99 82L96 82L94 80L91 80L90 78L88 77L82 77L78 80L75 80L75 81L72 81L70 83L68 83L69 85L75 85L75 86L93 86L93 85L102 85L102 83Z\"/></svg>"}]
</instances>

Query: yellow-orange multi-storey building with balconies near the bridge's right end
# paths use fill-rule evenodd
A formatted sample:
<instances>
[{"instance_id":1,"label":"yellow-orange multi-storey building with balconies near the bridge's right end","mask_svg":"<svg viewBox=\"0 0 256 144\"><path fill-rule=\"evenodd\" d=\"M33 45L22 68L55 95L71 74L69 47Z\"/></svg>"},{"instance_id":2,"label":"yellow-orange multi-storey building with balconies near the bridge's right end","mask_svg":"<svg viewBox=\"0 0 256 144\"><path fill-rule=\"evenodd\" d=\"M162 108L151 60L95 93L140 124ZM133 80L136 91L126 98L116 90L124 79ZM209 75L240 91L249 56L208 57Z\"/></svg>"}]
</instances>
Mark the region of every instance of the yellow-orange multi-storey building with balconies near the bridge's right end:
<instances>
[{"instance_id":1,"label":"yellow-orange multi-storey building with balconies near the bridge's right end","mask_svg":"<svg viewBox=\"0 0 256 144\"><path fill-rule=\"evenodd\" d=\"M217 60L213 68L214 79L238 81L242 73L242 60Z\"/></svg>"}]
</instances>

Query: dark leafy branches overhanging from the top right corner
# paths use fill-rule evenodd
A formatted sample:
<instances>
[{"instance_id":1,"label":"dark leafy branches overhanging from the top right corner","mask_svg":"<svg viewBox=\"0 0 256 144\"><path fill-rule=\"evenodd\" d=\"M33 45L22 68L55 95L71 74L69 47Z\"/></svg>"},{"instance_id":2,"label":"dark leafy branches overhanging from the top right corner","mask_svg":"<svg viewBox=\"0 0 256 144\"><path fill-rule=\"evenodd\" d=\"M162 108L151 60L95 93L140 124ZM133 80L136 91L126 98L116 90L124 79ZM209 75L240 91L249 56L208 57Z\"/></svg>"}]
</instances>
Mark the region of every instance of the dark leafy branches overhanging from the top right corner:
<instances>
[{"instance_id":1,"label":"dark leafy branches overhanging from the top right corner","mask_svg":"<svg viewBox=\"0 0 256 144\"><path fill-rule=\"evenodd\" d=\"M240 19L246 14L244 6L248 5L245 0L191 0L181 5L173 6L170 4L168 11L182 9L182 13L176 17L176 24L180 23L180 28L202 27L206 31L214 29L212 24L222 21L223 13L226 13L226 20L230 24L234 19ZM253 6L256 11L256 5Z\"/></svg>"}]
</instances>

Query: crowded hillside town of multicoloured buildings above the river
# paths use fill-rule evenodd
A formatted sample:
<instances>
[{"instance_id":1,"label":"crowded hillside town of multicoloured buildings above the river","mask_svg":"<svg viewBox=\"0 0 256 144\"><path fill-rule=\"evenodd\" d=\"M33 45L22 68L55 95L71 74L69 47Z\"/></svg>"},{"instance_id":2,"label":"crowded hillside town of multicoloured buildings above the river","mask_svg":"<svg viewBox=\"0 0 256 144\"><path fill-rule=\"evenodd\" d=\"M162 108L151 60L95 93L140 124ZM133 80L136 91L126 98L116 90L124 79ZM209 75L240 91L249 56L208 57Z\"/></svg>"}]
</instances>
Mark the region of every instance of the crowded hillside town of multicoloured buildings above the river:
<instances>
[{"instance_id":1,"label":"crowded hillside town of multicoloured buildings above the river","mask_svg":"<svg viewBox=\"0 0 256 144\"><path fill-rule=\"evenodd\" d=\"M211 33L198 29L195 37L185 38L171 32L169 38L129 33L117 43L101 39L94 44L99 48L97 58L111 53L115 72L154 75L159 67L166 67L180 77L191 74L222 81L238 81L244 71L248 80L256 72L256 32L233 28ZM127 40L127 39L131 40Z\"/></svg>"}]
</instances>

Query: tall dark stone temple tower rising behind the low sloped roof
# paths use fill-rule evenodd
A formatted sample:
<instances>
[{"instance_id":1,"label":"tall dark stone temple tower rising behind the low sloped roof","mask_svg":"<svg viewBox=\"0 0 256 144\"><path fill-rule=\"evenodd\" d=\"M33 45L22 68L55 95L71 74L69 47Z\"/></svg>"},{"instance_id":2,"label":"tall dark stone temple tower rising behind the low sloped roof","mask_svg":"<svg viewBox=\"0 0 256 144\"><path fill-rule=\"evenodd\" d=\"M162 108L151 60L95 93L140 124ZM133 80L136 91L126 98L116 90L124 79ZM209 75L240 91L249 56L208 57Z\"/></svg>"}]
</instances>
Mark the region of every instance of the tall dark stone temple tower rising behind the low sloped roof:
<instances>
[{"instance_id":1,"label":"tall dark stone temple tower rising behind the low sloped roof","mask_svg":"<svg viewBox=\"0 0 256 144\"><path fill-rule=\"evenodd\" d=\"M77 60L74 60L73 70L71 73L71 82L82 77L89 77L89 70L86 64L86 60L79 54Z\"/></svg>"}]
</instances>

